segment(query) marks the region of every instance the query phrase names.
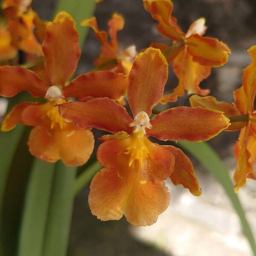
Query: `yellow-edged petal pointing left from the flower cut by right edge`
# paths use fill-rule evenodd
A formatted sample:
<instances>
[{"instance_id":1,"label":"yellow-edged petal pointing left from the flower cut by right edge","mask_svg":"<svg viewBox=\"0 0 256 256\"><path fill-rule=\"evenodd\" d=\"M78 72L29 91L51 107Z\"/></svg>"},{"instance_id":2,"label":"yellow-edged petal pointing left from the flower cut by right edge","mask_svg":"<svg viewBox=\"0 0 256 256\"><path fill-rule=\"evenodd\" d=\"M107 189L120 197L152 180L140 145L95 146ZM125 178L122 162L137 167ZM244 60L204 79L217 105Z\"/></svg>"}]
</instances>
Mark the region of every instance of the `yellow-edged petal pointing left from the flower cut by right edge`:
<instances>
[{"instance_id":1,"label":"yellow-edged petal pointing left from the flower cut by right edge","mask_svg":"<svg viewBox=\"0 0 256 256\"><path fill-rule=\"evenodd\" d=\"M239 116L239 111L233 107L233 105L227 102L219 102L212 96L200 97L198 95L193 95L189 98L191 107L202 107L210 108L218 111L224 112L224 115L228 118L232 116ZM236 131L240 130L246 125L246 122L232 122L226 131Z\"/></svg>"}]
</instances>

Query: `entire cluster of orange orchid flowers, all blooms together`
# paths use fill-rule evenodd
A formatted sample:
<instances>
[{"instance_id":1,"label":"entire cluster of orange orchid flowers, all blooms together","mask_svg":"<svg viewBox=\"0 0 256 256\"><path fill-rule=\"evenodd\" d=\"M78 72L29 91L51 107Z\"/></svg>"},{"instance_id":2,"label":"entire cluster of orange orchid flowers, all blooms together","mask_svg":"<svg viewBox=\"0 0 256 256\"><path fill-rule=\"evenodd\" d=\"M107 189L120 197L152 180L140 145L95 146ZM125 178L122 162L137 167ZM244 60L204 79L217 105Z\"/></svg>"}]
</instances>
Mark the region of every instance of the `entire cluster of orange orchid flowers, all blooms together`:
<instances>
[{"instance_id":1,"label":"entire cluster of orange orchid flowers, all blooms together","mask_svg":"<svg viewBox=\"0 0 256 256\"><path fill-rule=\"evenodd\" d=\"M95 17L84 20L81 26L94 30L102 52L95 70L72 81L69 79L81 50L75 21L68 13L60 12L52 22L43 22L29 7L31 0L5 0L6 26L0 27L0 61L9 64L0 67L0 96L28 91L35 98L41 97L38 102L16 105L5 117L2 131L18 123L34 127L28 141L31 154L48 162L61 159L67 166L81 166L90 158L92 128L110 132L99 138L102 144L97 159L103 168L90 186L90 209L101 220L125 215L137 226L153 224L168 207L168 178L193 195L201 195L191 161L166 141L201 142L224 130L241 129L235 146L235 192L246 177L256 178L256 47L249 49L253 61L234 93L235 107L211 96L195 95L190 98L192 107L169 108L152 116L154 106L176 101L184 90L207 95L209 90L200 89L200 82L209 76L211 67L227 61L230 50L218 40L202 36L206 31L202 18L185 34L172 17L170 0L143 3L157 20L158 32L173 43L152 43L137 55L135 46L119 49L117 32L124 26L121 15L112 15L108 33L99 30ZM11 66L9 60L15 58L17 49L28 59L38 60L39 56L40 61L31 70ZM172 62L179 84L173 93L164 95ZM132 117L122 106L125 104L118 104L126 95ZM160 140L161 145L151 142L150 137Z\"/></svg>"}]
</instances>

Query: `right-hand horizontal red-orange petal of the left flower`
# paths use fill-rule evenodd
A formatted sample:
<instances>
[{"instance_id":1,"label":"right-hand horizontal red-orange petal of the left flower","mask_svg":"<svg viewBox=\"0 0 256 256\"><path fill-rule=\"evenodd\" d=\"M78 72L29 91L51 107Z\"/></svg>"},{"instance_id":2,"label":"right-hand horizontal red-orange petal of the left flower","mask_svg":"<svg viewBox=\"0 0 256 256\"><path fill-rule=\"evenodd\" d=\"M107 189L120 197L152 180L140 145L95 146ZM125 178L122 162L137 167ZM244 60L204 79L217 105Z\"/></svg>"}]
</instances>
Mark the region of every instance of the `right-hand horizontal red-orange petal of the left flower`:
<instances>
[{"instance_id":1,"label":"right-hand horizontal red-orange petal of the left flower","mask_svg":"<svg viewBox=\"0 0 256 256\"><path fill-rule=\"evenodd\" d=\"M63 88L63 95L83 100L88 97L119 99L126 92L128 77L110 71L90 72L76 77Z\"/></svg>"}]
</instances>

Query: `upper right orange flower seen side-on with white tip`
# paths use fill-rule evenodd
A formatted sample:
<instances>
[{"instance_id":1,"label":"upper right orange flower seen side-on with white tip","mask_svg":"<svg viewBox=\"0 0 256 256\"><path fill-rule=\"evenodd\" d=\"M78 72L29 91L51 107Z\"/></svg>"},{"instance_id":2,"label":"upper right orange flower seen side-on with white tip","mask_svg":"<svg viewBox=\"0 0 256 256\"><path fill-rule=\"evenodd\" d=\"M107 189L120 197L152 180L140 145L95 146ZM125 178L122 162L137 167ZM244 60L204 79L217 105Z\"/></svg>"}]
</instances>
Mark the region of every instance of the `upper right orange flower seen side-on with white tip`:
<instances>
[{"instance_id":1,"label":"upper right orange flower seen side-on with white tip","mask_svg":"<svg viewBox=\"0 0 256 256\"><path fill-rule=\"evenodd\" d=\"M151 47L164 53L168 63L173 62L173 71L179 79L173 93L164 95L161 103L177 101L184 90L188 94L209 94L210 91L201 89L199 84L210 75L211 67L220 67L227 62L230 49L215 38L203 37L207 30L204 18L196 20L186 33L183 32L172 17L173 4L170 0L143 0L143 4L145 10L158 21L157 31L176 43L172 46L151 44Z\"/></svg>"}]
</instances>

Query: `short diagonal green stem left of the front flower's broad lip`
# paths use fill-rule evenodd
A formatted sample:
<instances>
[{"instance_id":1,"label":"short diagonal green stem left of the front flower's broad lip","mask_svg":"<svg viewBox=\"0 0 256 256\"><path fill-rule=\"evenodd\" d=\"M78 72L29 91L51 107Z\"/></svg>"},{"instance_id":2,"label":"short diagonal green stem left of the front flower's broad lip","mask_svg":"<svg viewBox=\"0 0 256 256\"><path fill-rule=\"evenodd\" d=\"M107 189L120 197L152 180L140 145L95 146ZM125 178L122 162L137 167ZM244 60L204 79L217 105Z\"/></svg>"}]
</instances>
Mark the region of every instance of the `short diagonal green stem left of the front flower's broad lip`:
<instances>
[{"instance_id":1,"label":"short diagonal green stem left of the front flower's broad lip","mask_svg":"<svg viewBox=\"0 0 256 256\"><path fill-rule=\"evenodd\" d=\"M102 166L96 161L77 177L74 185L75 196L90 182L90 180L93 178L96 172L101 169L101 167Z\"/></svg>"}]
</instances>

